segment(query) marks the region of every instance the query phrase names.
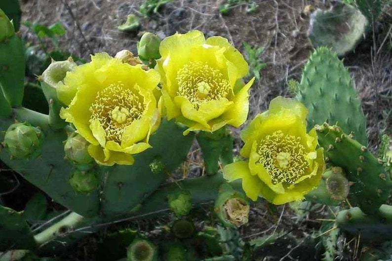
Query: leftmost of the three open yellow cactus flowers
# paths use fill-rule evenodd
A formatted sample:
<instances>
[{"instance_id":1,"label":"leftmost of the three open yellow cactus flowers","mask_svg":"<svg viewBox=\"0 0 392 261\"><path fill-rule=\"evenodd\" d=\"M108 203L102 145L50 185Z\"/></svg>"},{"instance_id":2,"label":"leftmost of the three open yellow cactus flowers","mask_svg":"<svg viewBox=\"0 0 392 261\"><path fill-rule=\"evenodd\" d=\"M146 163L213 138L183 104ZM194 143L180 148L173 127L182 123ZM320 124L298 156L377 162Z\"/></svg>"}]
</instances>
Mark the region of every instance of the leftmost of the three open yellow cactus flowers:
<instances>
[{"instance_id":1,"label":"leftmost of the three open yellow cactus flowers","mask_svg":"<svg viewBox=\"0 0 392 261\"><path fill-rule=\"evenodd\" d=\"M102 165L134 162L148 148L160 123L154 96L160 76L143 65L130 65L107 53L67 72L57 96L67 105L60 116L90 143L88 153Z\"/></svg>"}]
</instances>

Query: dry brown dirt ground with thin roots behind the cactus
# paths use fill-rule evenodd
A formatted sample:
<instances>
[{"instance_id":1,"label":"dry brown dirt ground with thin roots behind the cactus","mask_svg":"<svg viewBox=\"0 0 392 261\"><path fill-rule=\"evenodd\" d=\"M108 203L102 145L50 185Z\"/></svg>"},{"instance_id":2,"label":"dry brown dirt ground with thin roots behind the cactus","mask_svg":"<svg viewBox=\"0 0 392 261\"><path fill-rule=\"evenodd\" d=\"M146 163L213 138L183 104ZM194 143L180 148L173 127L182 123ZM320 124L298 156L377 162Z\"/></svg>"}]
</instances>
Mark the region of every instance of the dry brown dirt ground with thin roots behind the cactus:
<instances>
[{"instance_id":1,"label":"dry brown dirt ground with thin roots behind the cactus","mask_svg":"<svg viewBox=\"0 0 392 261\"><path fill-rule=\"evenodd\" d=\"M60 21L67 29L65 37L60 38L60 46L85 59L91 53L102 51L115 55L119 50L130 49L136 53L136 43L143 31L153 32L163 38L175 32L185 33L197 29L206 37L227 37L242 53L244 41L252 46L263 46L265 51L262 58L268 66L263 69L261 80L250 91L248 119L252 119L257 113L266 110L270 100L277 95L290 95L288 79L301 77L303 65L313 51L307 38L309 16L303 13L305 6L312 4L327 9L331 4L328 0L256 0L259 7L253 13L246 13L245 5L241 4L228 15L222 15L218 9L222 2L219 0L174 0L151 17L142 17L139 12L141 2L22 0L22 20L47 26ZM140 18L142 27L139 34L123 33L117 29L118 25L125 22L128 14ZM376 32L384 30L382 25L376 28ZM26 27L22 27L21 31L27 41L37 41L36 36ZM374 38L367 36L354 53L345 57L345 64L349 66L363 101L370 148L373 150L377 149L379 135L390 130L392 125L392 55L386 44L380 48L384 37L385 34L383 36L381 33ZM238 130L233 131L239 146ZM197 155L194 157L197 160ZM276 222L286 227L294 225L288 207L278 207L277 215L272 216L266 209L265 205L252 209L250 225L242 229L245 238L263 234Z\"/></svg>"}]
</instances>

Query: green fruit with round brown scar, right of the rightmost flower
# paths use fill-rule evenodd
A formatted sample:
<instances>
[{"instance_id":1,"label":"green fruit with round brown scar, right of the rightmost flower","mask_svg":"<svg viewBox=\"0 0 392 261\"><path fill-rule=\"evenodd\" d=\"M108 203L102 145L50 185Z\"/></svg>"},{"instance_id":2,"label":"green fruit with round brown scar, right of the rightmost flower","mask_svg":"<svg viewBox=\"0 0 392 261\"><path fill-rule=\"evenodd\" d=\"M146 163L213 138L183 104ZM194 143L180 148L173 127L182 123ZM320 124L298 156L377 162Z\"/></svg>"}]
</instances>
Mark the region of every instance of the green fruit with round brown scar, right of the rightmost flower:
<instances>
[{"instance_id":1,"label":"green fruit with round brown scar, right of the rightmost flower","mask_svg":"<svg viewBox=\"0 0 392 261\"><path fill-rule=\"evenodd\" d=\"M337 206L347 198L349 190L349 181L342 168L332 167L325 170L317 188L309 192L305 198L311 202Z\"/></svg>"}]
</instances>

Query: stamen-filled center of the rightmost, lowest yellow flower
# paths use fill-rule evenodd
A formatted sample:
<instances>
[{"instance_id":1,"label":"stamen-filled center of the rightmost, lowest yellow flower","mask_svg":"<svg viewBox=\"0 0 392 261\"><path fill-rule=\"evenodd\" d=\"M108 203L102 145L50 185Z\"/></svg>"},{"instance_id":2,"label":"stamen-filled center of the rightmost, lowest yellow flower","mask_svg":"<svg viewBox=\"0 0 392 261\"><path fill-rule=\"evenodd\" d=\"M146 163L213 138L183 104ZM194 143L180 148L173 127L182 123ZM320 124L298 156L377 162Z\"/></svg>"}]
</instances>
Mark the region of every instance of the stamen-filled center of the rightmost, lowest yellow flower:
<instances>
[{"instance_id":1,"label":"stamen-filled center of the rightmost, lowest yellow flower","mask_svg":"<svg viewBox=\"0 0 392 261\"><path fill-rule=\"evenodd\" d=\"M267 135L260 142L257 149L259 163L270 174L274 185L294 184L304 175L309 163L305 159L305 147L300 142L300 137L284 135L281 131Z\"/></svg>"}]
</instances>

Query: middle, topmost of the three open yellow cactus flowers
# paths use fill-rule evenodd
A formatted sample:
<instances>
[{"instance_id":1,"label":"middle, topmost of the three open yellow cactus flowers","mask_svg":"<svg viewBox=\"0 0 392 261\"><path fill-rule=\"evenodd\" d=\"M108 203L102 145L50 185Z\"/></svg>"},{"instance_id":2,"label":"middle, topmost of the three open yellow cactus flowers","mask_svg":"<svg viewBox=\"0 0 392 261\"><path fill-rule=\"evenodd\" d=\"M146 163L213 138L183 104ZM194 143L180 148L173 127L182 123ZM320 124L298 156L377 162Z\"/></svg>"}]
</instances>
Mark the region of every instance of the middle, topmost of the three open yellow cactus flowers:
<instances>
[{"instance_id":1,"label":"middle, topmost of the three open yellow cactus flowers","mask_svg":"<svg viewBox=\"0 0 392 261\"><path fill-rule=\"evenodd\" d=\"M215 131L226 124L239 127L248 110L248 64L226 38L204 38L200 31L162 40L156 69L162 78L162 98L168 119L190 131Z\"/></svg>"}]
</instances>

